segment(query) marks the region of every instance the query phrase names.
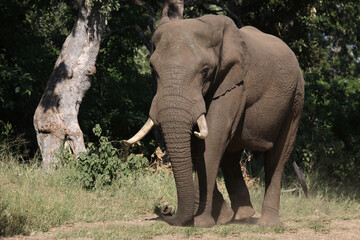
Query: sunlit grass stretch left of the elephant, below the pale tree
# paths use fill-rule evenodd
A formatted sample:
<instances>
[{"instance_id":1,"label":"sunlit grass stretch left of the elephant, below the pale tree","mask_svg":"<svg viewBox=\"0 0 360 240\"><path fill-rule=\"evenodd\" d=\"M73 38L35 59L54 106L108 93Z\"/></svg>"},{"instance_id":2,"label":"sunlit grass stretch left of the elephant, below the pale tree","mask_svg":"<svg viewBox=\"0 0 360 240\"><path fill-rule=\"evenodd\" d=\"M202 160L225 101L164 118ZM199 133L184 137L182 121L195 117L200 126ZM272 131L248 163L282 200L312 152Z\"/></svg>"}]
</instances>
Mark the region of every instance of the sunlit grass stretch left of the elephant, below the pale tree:
<instances>
[{"instance_id":1,"label":"sunlit grass stretch left of the elephant, below the pale tree","mask_svg":"<svg viewBox=\"0 0 360 240\"><path fill-rule=\"evenodd\" d=\"M72 169L44 173L37 165L0 162L0 233L28 234L73 222L136 219L152 213L173 178L166 174L134 174L113 186L88 191ZM165 183L165 184L164 184Z\"/></svg>"}]
</instances>

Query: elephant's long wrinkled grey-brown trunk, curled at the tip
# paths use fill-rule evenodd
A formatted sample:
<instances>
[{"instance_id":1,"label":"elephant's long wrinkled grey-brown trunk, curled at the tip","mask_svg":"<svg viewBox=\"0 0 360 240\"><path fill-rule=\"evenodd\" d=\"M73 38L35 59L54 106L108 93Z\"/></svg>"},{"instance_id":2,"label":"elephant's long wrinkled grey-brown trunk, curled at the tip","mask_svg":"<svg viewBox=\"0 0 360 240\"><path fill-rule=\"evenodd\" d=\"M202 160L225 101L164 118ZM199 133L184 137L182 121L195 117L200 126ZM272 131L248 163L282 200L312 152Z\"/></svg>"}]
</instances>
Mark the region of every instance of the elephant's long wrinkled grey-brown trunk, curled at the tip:
<instances>
[{"instance_id":1,"label":"elephant's long wrinkled grey-brown trunk, curled at the tip","mask_svg":"<svg viewBox=\"0 0 360 240\"><path fill-rule=\"evenodd\" d=\"M158 90L150 110L150 118L156 125L160 125L164 135L178 197L175 214L172 214L171 208L168 207L164 207L158 214L165 222L177 226L193 224L194 220L195 191L190 149L191 135L197 119L205 113L202 96L201 99L194 99L193 94L187 94L189 92L191 90L173 86L162 87ZM199 134L206 137L206 123L201 123L199 130Z\"/></svg>"}]
</instances>

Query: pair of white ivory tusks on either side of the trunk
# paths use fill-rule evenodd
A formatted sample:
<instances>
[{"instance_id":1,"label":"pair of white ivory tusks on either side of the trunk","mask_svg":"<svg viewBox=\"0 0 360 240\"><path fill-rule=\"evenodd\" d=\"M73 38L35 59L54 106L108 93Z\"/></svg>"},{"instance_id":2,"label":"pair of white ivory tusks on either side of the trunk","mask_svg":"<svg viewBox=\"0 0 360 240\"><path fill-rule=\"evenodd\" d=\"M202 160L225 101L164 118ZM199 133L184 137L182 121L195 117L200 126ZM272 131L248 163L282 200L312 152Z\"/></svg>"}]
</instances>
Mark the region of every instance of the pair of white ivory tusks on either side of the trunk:
<instances>
[{"instance_id":1,"label":"pair of white ivory tusks on either side of the trunk","mask_svg":"<svg viewBox=\"0 0 360 240\"><path fill-rule=\"evenodd\" d=\"M195 131L194 135L200 139L205 139L208 136L209 130L206 122L206 117L204 114L201 114L200 117L196 121L199 132ZM149 117L148 120L145 122L144 126L131 138L124 141L124 144L127 146L131 146L136 142L143 139L154 127L154 121Z\"/></svg>"}]
</instances>

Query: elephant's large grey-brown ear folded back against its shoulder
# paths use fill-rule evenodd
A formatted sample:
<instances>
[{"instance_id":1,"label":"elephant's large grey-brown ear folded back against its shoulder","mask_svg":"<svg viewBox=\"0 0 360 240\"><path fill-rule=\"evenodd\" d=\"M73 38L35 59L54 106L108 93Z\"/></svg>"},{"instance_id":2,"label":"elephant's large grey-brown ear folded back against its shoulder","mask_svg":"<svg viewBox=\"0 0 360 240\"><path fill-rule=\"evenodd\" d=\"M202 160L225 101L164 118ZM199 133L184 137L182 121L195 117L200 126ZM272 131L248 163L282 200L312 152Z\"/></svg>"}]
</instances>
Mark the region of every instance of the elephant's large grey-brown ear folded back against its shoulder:
<instances>
[{"instance_id":1,"label":"elephant's large grey-brown ear folded back against its shoulder","mask_svg":"<svg viewBox=\"0 0 360 240\"><path fill-rule=\"evenodd\" d=\"M214 81L216 90L213 99L217 99L244 84L250 58L242 33L230 18L207 15L199 20L211 24L214 31L222 30L219 63Z\"/></svg>"}]
</instances>

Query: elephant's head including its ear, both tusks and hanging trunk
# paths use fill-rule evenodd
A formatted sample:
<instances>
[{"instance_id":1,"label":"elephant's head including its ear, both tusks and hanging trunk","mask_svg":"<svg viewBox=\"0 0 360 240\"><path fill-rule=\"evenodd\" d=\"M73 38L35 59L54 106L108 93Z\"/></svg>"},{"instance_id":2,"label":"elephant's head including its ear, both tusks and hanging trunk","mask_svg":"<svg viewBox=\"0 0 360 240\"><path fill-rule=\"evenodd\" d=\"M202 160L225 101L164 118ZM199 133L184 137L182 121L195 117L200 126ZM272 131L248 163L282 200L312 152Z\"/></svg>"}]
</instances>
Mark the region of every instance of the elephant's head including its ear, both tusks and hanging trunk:
<instances>
[{"instance_id":1,"label":"elephant's head including its ear, both tusks and hanging trunk","mask_svg":"<svg viewBox=\"0 0 360 240\"><path fill-rule=\"evenodd\" d=\"M163 21L152 41L157 92L149 120L127 143L140 140L154 124L160 126L178 196L177 213L164 208L161 217L171 225L187 225L195 208L191 135L198 125L194 134L206 138L207 106L242 84L247 54L239 29L225 16Z\"/></svg>"}]
</instances>

